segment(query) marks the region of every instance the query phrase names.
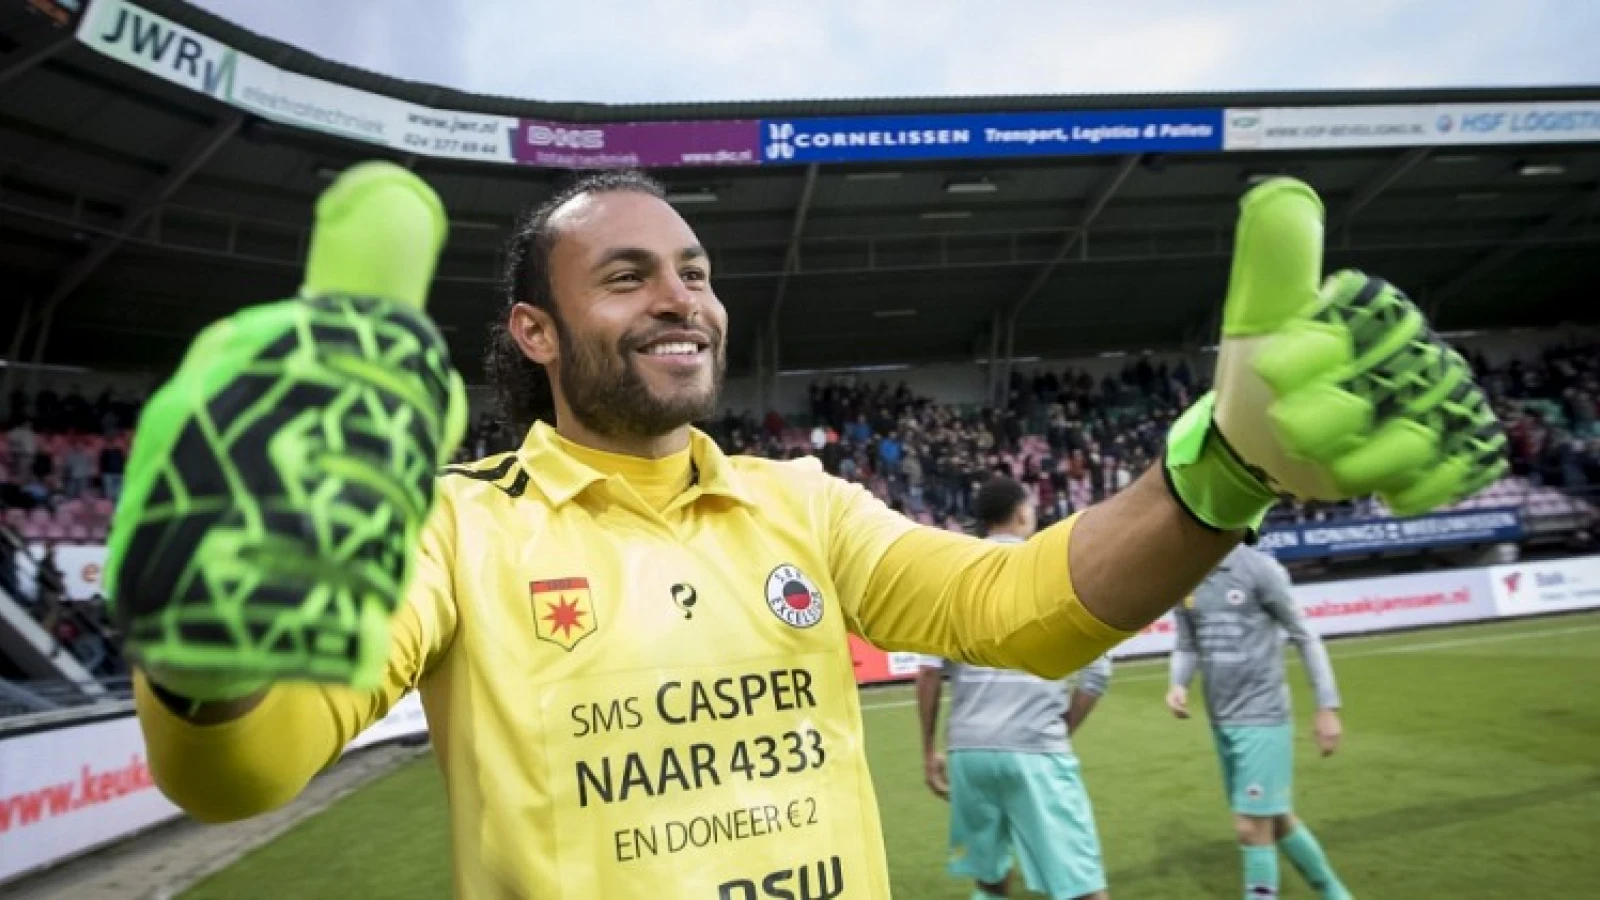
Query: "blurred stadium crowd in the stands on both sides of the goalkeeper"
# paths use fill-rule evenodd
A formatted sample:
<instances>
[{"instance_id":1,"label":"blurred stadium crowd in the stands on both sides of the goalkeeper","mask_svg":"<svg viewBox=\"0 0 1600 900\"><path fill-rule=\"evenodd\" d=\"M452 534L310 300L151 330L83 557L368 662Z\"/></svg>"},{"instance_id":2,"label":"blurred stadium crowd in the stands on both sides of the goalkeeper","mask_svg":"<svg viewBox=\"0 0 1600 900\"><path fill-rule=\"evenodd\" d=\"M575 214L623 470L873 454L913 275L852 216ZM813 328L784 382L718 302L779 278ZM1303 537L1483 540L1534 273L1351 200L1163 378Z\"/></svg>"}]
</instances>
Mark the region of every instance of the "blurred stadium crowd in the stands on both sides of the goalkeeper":
<instances>
[{"instance_id":1,"label":"blurred stadium crowd in the stands on both sides of the goalkeeper","mask_svg":"<svg viewBox=\"0 0 1600 900\"><path fill-rule=\"evenodd\" d=\"M1600 344L1546 349L1491 365L1472 354L1510 439L1512 474L1531 487L1586 493L1600 485ZM1046 522L1104 500L1160 458L1173 418L1208 389L1184 362L1131 359L1117 376L1077 368L1013 373L1003 407L942 404L906 383L814 381L794 416L726 413L702 423L730 453L814 455L923 522L965 527L990 472L1022 480ZM27 543L102 541L122 488L139 402L82 388L10 397L0 440L0 511ZM483 415L459 460L514 447ZM1374 508L1290 506L1288 519L1382 514Z\"/></svg>"}]
</instances>

